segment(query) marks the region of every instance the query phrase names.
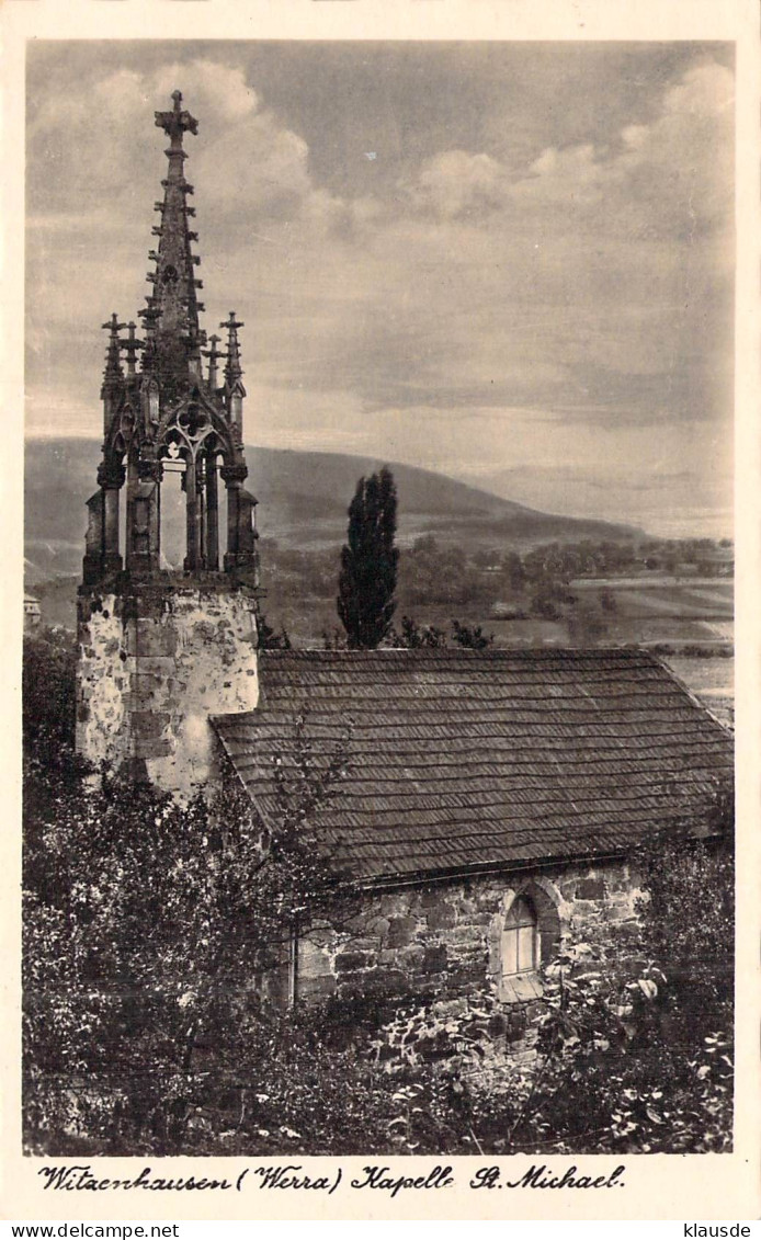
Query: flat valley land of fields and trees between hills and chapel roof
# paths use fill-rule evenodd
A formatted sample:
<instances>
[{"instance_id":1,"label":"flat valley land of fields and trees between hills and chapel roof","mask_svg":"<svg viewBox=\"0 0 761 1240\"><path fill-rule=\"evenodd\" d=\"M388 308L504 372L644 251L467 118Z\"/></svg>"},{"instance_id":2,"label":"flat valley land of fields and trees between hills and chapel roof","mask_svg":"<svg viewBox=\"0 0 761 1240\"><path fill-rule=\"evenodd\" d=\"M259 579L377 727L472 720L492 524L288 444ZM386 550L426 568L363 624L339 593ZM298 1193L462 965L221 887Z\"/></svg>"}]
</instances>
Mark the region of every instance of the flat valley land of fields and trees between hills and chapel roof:
<instances>
[{"instance_id":1,"label":"flat valley land of fields and trees between hills and chapel roof","mask_svg":"<svg viewBox=\"0 0 761 1240\"><path fill-rule=\"evenodd\" d=\"M289 552L263 539L263 610L269 625L275 631L285 627L297 649L342 639L336 614L338 548L336 542L323 551ZM524 563L530 564L530 554ZM692 692L731 722L731 578L699 577L694 567L683 575L632 568L630 575L601 573L568 587L558 578L543 605L535 578L514 587L491 562L485 567L483 557L468 558L456 544L403 548L395 622L400 627L409 615L451 639L456 619L481 626L496 649L642 646L668 661ZM76 587L73 575L35 585L43 624L73 629Z\"/></svg>"}]
</instances>

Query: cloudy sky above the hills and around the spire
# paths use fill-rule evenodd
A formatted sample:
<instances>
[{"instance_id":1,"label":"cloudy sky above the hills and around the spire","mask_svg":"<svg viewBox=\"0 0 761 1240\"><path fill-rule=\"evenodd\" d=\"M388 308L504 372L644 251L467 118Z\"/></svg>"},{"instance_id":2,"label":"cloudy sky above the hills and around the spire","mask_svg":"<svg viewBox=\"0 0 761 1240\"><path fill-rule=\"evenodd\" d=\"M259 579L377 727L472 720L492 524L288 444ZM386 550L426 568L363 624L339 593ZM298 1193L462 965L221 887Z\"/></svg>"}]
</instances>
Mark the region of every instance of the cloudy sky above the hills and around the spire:
<instances>
[{"instance_id":1,"label":"cloudy sky above the hills and around the spire","mask_svg":"<svg viewBox=\"0 0 761 1240\"><path fill-rule=\"evenodd\" d=\"M37 42L31 436L100 434L99 327L149 291L175 88L248 444L731 533L729 45Z\"/></svg>"}]
</instances>

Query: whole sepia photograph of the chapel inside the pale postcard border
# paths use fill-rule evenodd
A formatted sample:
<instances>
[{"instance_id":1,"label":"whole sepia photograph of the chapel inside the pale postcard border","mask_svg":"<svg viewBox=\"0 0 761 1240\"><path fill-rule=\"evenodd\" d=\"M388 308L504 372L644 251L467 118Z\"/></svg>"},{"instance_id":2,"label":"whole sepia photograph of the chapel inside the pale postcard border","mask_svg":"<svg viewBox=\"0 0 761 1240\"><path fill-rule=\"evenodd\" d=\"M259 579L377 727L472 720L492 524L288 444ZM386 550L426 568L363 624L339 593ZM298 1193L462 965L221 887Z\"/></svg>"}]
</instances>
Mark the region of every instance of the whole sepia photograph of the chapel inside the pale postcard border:
<instances>
[{"instance_id":1,"label":"whole sepia photograph of the chapel inside the pale postcard border","mask_svg":"<svg viewBox=\"0 0 761 1240\"><path fill-rule=\"evenodd\" d=\"M25 210L25 1154L731 1153L735 45L38 38Z\"/></svg>"}]
</instances>

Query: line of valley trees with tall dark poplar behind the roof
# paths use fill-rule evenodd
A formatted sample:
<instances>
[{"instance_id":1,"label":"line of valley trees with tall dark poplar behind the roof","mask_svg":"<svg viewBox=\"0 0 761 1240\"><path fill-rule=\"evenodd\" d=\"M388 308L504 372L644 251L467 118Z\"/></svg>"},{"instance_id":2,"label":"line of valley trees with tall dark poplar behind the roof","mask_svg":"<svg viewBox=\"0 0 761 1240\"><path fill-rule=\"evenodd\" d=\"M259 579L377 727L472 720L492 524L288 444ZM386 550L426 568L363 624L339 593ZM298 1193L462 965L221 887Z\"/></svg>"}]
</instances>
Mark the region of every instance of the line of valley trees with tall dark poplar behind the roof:
<instances>
[{"instance_id":1,"label":"line of valley trees with tall dark poplar behind the roof","mask_svg":"<svg viewBox=\"0 0 761 1240\"><path fill-rule=\"evenodd\" d=\"M566 619L594 637L616 611L606 578L731 573L729 539L580 539L518 551L467 549L429 533L399 547L393 475L383 469L357 482L340 557L332 548L290 551L265 539L265 584L276 610L289 618L285 627L311 621L312 637L322 631L326 645L350 649L457 644L472 627L462 614L460 627L452 621L447 630L416 624L418 614L436 608L452 616L499 604L506 619ZM591 611L589 594L580 600L574 593L573 583L581 578L601 579ZM283 644L281 637L276 635L275 644ZM467 632L461 644L468 644Z\"/></svg>"}]
</instances>

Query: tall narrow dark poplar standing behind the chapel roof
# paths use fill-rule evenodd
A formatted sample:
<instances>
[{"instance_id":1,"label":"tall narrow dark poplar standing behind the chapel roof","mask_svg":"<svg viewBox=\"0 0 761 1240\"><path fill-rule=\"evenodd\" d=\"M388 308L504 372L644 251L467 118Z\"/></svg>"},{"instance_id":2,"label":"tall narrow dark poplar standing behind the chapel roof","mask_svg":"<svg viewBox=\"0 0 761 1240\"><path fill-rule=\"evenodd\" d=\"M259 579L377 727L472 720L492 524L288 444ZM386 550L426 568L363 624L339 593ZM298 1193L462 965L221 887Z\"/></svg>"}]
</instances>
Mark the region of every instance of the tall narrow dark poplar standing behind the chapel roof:
<instances>
[{"instance_id":1,"label":"tall narrow dark poplar standing behind the chapel roof","mask_svg":"<svg viewBox=\"0 0 761 1240\"><path fill-rule=\"evenodd\" d=\"M395 533L397 487L384 466L359 479L348 507L337 608L350 650L374 650L390 629L399 562Z\"/></svg>"}]
</instances>

